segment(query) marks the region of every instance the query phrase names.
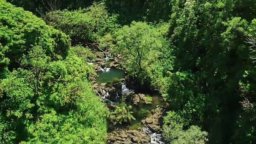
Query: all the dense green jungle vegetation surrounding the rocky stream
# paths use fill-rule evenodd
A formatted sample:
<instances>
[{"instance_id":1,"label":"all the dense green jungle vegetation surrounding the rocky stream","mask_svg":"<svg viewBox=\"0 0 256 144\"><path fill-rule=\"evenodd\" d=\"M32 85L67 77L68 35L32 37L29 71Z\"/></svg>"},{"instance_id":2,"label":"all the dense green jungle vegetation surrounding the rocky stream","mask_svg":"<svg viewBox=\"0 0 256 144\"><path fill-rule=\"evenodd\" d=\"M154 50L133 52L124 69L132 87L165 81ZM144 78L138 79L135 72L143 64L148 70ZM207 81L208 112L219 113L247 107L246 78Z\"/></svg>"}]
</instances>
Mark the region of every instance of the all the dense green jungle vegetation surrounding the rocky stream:
<instances>
[{"instance_id":1,"label":"all the dense green jungle vegetation surrounding the rocky stream","mask_svg":"<svg viewBox=\"0 0 256 144\"><path fill-rule=\"evenodd\" d=\"M106 142L92 43L164 96L166 143L256 143L254 0L0 0L0 144Z\"/></svg>"}]
</instances>

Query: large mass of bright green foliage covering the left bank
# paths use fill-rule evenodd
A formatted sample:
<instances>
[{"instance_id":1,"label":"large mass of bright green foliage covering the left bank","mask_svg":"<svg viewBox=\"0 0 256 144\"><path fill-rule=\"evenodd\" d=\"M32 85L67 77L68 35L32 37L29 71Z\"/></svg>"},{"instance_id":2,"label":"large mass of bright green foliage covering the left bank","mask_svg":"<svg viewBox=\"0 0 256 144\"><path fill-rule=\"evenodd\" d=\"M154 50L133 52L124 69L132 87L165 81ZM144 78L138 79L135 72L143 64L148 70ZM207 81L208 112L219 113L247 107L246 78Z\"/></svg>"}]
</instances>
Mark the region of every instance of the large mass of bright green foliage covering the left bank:
<instances>
[{"instance_id":1,"label":"large mass of bright green foliage covering the left bank","mask_svg":"<svg viewBox=\"0 0 256 144\"><path fill-rule=\"evenodd\" d=\"M104 144L108 111L87 80L92 53L70 49L68 36L22 8L0 1L0 14L0 143Z\"/></svg>"}]
</instances>

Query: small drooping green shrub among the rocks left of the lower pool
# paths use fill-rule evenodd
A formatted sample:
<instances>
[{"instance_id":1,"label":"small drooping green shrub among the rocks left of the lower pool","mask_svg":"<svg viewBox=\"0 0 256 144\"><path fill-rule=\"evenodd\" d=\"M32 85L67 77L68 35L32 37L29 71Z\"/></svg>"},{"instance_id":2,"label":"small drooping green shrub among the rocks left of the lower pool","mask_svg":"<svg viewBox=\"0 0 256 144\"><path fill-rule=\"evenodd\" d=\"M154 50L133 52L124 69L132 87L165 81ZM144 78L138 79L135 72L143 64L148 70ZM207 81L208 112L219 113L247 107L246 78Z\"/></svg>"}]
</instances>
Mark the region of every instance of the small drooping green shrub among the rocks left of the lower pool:
<instances>
[{"instance_id":1,"label":"small drooping green shrub among the rocks left of the lower pool","mask_svg":"<svg viewBox=\"0 0 256 144\"><path fill-rule=\"evenodd\" d=\"M130 122L131 120L135 120L132 113L132 106L128 106L126 103L121 102L116 106L114 111L111 112L110 119L114 124Z\"/></svg>"}]
</instances>

